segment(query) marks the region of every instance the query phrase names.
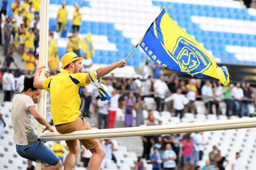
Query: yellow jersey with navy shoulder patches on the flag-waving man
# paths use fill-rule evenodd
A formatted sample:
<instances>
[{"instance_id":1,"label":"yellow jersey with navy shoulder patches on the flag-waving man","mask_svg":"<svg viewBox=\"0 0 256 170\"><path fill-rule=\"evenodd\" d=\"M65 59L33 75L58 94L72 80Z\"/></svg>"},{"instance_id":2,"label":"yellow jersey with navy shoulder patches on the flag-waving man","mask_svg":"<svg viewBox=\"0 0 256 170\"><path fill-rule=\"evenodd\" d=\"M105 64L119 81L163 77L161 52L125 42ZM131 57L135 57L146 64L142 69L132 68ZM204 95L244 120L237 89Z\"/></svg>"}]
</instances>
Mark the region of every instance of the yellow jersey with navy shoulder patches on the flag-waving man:
<instances>
[{"instance_id":1,"label":"yellow jersey with navy shoulder patches on the flag-waving man","mask_svg":"<svg viewBox=\"0 0 256 170\"><path fill-rule=\"evenodd\" d=\"M78 57L77 57L78 58ZM43 87L50 91L53 124L73 122L81 115L81 89L85 83L87 73L61 73L43 80Z\"/></svg>"}]
</instances>

